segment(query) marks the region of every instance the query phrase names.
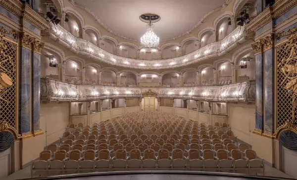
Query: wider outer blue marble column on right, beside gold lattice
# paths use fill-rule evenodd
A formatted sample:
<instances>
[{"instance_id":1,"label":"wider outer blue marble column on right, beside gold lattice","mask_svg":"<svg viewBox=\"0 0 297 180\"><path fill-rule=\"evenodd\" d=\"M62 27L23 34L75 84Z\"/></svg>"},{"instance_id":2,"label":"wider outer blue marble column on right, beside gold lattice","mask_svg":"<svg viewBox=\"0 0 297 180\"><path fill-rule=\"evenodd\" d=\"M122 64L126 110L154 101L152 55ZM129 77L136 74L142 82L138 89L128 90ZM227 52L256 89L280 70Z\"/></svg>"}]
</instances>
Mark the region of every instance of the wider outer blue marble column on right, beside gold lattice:
<instances>
[{"instance_id":1,"label":"wider outer blue marble column on right, beside gold lattice","mask_svg":"<svg viewBox=\"0 0 297 180\"><path fill-rule=\"evenodd\" d=\"M265 129L264 131L273 132L274 121L274 56L273 49L264 52L265 57Z\"/></svg>"}]
</instances>

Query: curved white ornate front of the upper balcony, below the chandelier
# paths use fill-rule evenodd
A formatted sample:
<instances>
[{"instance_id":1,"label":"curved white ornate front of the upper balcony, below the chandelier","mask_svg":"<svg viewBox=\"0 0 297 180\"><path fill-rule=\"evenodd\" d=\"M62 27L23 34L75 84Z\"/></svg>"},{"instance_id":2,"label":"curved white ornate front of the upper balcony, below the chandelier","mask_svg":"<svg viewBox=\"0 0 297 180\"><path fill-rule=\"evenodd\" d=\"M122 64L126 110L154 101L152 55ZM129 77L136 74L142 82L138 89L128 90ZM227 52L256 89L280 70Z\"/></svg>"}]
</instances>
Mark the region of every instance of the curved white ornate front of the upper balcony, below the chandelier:
<instances>
[{"instance_id":1,"label":"curved white ornate front of the upper balcony, below the chandelier","mask_svg":"<svg viewBox=\"0 0 297 180\"><path fill-rule=\"evenodd\" d=\"M245 27L239 26L219 42L203 46L190 54L166 60L137 60L120 57L99 48L87 40L74 37L59 25L52 26L48 36L50 39L57 41L59 44L77 54L94 58L108 64L136 69L168 69L222 56L234 49L238 43L241 44L245 42L247 33Z\"/></svg>"}]
</instances>

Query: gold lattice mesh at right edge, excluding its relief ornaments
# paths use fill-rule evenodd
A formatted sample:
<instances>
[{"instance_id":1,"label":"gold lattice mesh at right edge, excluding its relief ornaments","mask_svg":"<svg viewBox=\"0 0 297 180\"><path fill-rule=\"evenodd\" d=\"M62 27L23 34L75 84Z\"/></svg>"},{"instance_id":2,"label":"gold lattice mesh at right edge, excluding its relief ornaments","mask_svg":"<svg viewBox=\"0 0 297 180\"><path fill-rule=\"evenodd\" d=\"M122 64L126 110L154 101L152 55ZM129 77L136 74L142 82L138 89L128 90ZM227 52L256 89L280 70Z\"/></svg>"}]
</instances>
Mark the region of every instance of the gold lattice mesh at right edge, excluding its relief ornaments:
<instances>
[{"instance_id":1,"label":"gold lattice mesh at right edge, excluding its relief ornaments","mask_svg":"<svg viewBox=\"0 0 297 180\"><path fill-rule=\"evenodd\" d=\"M296 65L297 59L290 58L292 42L287 41L276 47L277 49L277 128L284 125L286 121L292 121L292 95L293 91L286 89L286 85L291 83L292 79L297 77L295 73L283 73L283 69L286 66ZM290 47L290 48L289 48ZM297 47L293 45L295 51ZM286 61L286 59L290 59ZM295 109L296 115L296 109ZM296 125L296 118L293 120L293 124Z\"/></svg>"}]
</instances>

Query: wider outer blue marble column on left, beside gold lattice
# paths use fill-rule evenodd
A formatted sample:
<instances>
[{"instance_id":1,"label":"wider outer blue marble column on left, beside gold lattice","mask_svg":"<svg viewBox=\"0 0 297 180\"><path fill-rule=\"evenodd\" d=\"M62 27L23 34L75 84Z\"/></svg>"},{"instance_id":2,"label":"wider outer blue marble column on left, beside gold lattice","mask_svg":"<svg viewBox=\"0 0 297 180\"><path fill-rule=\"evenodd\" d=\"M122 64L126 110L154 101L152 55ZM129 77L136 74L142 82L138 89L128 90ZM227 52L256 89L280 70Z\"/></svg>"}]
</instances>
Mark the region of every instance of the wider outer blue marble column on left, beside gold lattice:
<instances>
[{"instance_id":1,"label":"wider outer blue marble column on left, beside gold lattice","mask_svg":"<svg viewBox=\"0 0 297 180\"><path fill-rule=\"evenodd\" d=\"M21 47L20 57L20 99L19 99L19 130L20 133L30 132L30 88L31 88L31 50Z\"/></svg>"}]
</instances>

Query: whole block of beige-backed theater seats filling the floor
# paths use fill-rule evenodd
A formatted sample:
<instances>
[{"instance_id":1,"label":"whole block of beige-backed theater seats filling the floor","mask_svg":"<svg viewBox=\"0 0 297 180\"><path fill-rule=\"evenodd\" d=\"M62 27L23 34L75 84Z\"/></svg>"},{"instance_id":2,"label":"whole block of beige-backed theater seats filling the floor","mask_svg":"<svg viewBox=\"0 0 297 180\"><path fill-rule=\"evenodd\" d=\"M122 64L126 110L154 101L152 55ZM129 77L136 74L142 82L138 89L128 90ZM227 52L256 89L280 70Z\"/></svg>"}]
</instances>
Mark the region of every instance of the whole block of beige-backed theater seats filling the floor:
<instances>
[{"instance_id":1,"label":"whole block of beige-backed theater seats filling the floor","mask_svg":"<svg viewBox=\"0 0 297 180\"><path fill-rule=\"evenodd\" d=\"M226 131L223 131L223 128L227 128ZM67 130L70 131L66 131L60 138L59 146L49 145L47 150L40 154L40 159L32 165L32 173L33 171L48 173L117 171L118 168L126 170L134 167L128 163L134 160L138 162L136 168L140 169L148 168L146 162L155 162L154 166L151 165L149 168L211 170L208 162L213 160L212 163L216 162L216 166L212 168L222 171L222 168L226 167L224 163L220 164L220 162L226 160L229 162L228 170L246 169L248 171L256 168L264 171L262 160L256 158L254 151L248 149L246 144L240 144L237 147L237 139L228 124L216 123L214 126L206 126L167 113L142 112L93 124L92 127L84 126L81 123L71 124ZM75 159L70 158L75 152L80 155L75 156ZM140 156L138 152L140 152ZM148 154L153 152L154 157L147 156L150 158L146 158L146 152ZM44 153L50 155L44 157ZM107 156L103 156L102 153ZM57 154L59 155L56 156ZM124 157L124 154L125 158L121 158ZM240 154L241 156L239 156ZM254 156L251 156L252 154ZM191 158L194 156L196 159ZM57 157L60 158L57 159ZM108 160L108 163L106 162L108 167L106 165L102 168L101 163L98 162L100 160ZM167 162L166 167L162 165L163 160ZM196 163L194 163L191 169L191 162L196 162L196 160L201 162L202 166L195 167ZM179 161L185 162L185 164L182 163L185 166L174 165L174 162ZM246 166L243 165L244 162ZM118 163L121 164L120 167L118 167ZM85 164L88 164L88 168ZM92 167L89 166L91 164ZM72 169L69 170L69 167ZM73 167L75 168L73 169Z\"/></svg>"}]
</instances>

